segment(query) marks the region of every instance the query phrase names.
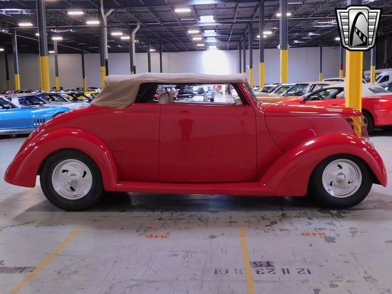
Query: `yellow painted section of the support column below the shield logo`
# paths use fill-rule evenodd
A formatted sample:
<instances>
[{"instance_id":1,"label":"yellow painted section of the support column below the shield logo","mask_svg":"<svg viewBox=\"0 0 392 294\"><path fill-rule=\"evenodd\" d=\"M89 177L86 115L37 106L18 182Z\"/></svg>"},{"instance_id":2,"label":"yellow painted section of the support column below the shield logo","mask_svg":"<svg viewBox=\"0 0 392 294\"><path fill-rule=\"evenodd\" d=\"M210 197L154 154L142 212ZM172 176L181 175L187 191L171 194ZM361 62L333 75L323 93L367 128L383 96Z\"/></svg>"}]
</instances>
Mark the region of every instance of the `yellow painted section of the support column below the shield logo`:
<instances>
[{"instance_id":1,"label":"yellow painted section of the support column below the shield logo","mask_svg":"<svg viewBox=\"0 0 392 294\"><path fill-rule=\"evenodd\" d=\"M362 111L362 51L346 51L346 106Z\"/></svg>"}]
</instances>

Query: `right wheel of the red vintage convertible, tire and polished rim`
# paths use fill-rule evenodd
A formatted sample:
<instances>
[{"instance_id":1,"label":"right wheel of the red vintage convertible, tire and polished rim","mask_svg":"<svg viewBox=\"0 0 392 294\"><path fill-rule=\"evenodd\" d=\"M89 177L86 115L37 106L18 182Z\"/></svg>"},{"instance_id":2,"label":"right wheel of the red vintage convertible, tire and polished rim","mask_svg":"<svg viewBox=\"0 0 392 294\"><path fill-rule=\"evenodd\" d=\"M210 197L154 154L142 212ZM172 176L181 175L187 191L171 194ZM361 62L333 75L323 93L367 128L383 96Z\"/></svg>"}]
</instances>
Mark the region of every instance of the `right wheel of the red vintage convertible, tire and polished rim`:
<instances>
[{"instance_id":1,"label":"right wheel of the red vintage convertible, tire and polished rim","mask_svg":"<svg viewBox=\"0 0 392 294\"><path fill-rule=\"evenodd\" d=\"M371 179L363 160L350 154L337 154L326 158L314 169L309 192L327 207L352 207L369 194Z\"/></svg>"}]
</instances>

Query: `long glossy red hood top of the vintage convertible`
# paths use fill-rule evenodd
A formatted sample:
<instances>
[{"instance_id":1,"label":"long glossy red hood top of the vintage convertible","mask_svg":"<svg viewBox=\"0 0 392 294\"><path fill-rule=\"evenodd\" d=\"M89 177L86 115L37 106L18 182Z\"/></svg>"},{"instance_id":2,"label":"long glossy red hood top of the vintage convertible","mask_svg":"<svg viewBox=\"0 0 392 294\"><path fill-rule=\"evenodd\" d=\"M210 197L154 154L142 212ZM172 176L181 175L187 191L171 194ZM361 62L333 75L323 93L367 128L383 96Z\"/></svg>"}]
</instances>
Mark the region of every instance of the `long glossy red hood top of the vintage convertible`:
<instances>
[{"instance_id":1,"label":"long glossy red hood top of the vintage convertible","mask_svg":"<svg viewBox=\"0 0 392 294\"><path fill-rule=\"evenodd\" d=\"M296 99L294 99L296 100ZM290 100L293 102L293 100ZM265 112L265 116L359 116L361 113L353 108L340 106L322 106L310 104L274 103L266 105L260 103L258 108Z\"/></svg>"}]
</instances>

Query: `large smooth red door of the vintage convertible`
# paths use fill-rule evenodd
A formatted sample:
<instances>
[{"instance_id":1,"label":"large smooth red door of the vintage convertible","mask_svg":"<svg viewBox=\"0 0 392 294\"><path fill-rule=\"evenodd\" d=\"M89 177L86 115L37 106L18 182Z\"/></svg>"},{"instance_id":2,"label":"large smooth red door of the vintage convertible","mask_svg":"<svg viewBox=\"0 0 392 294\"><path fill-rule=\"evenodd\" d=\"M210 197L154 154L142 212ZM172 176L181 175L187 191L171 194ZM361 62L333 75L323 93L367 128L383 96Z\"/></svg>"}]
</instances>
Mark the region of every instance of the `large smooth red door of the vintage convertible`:
<instances>
[{"instance_id":1,"label":"large smooth red door of the vintage convertible","mask_svg":"<svg viewBox=\"0 0 392 294\"><path fill-rule=\"evenodd\" d=\"M256 119L251 106L161 104L159 144L160 181L256 180Z\"/></svg>"}]
</instances>

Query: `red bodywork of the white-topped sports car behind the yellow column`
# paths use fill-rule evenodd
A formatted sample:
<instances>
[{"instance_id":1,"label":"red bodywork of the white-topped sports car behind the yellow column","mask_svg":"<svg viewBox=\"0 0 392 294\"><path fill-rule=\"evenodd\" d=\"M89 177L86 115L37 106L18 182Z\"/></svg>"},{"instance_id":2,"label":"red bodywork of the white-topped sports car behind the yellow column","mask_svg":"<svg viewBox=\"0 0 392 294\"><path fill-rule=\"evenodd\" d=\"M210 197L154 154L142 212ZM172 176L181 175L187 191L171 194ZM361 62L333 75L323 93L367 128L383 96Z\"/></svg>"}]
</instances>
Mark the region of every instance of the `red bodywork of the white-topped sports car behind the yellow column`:
<instances>
[{"instance_id":1,"label":"red bodywork of the white-topped sports car behind the yellow column","mask_svg":"<svg viewBox=\"0 0 392 294\"><path fill-rule=\"evenodd\" d=\"M344 98L311 100L300 103L301 98L287 100L279 103L302 104L302 105L339 105L345 106ZM362 97L362 110L372 114L375 126L392 125L392 95Z\"/></svg>"}]
</instances>

